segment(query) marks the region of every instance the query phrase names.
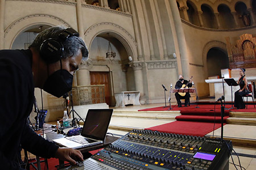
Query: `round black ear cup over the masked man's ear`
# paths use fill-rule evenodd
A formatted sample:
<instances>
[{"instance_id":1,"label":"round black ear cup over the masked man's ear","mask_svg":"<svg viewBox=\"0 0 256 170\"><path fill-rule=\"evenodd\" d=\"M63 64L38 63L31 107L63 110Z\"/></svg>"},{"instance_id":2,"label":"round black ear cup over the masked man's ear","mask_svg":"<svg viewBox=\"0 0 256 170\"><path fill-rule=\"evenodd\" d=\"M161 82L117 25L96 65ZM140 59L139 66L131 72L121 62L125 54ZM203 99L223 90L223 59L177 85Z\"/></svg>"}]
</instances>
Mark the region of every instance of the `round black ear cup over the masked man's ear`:
<instances>
[{"instance_id":1,"label":"round black ear cup over the masked man's ear","mask_svg":"<svg viewBox=\"0 0 256 170\"><path fill-rule=\"evenodd\" d=\"M61 42L55 39L47 39L40 46L40 56L47 63L54 63L61 59L63 50Z\"/></svg>"}]
</instances>

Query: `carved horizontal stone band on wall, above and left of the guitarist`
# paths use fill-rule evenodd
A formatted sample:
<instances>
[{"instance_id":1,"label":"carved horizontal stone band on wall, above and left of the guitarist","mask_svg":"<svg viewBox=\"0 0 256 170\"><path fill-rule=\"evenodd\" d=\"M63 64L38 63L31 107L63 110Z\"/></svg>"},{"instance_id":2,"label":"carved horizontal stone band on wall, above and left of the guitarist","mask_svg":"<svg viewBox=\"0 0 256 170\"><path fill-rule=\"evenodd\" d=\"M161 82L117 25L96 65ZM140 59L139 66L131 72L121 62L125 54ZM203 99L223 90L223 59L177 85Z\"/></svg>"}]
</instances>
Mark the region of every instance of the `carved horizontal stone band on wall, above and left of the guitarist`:
<instances>
[{"instance_id":1,"label":"carved horizontal stone band on wall, above and left of the guitarist","mask_svg":"<svg viewBox=\"0 0 256 170\"><path fill-rule=\"evenodd\" d=\"M176 68L177 61L173 60L163 60L163 61L148 61L146 62L147 69L174 69Z\"/></svg>"}]
</instances>

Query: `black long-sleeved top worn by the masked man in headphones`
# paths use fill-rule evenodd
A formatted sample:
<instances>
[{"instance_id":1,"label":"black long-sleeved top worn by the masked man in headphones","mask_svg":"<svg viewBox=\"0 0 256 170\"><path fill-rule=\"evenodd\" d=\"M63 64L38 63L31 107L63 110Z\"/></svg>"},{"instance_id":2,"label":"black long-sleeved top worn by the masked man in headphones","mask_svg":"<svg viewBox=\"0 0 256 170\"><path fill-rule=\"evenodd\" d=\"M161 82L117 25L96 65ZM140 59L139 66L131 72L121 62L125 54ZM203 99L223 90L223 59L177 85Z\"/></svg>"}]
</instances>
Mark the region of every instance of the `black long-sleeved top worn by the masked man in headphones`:
<instances>
[{"instance_id":1,"label":"black long-sleeved top worn by the masked man in headphones","mask_svg":"<svg viewBox=\"0 0 256 170\"><path fill-rule=\"evenodd\" d=\"M22 169L20 147L44 158L58 148L27 125L34 101L31 61L30 50L0 50L0 169Z\"/></svg>"}]
</instances>

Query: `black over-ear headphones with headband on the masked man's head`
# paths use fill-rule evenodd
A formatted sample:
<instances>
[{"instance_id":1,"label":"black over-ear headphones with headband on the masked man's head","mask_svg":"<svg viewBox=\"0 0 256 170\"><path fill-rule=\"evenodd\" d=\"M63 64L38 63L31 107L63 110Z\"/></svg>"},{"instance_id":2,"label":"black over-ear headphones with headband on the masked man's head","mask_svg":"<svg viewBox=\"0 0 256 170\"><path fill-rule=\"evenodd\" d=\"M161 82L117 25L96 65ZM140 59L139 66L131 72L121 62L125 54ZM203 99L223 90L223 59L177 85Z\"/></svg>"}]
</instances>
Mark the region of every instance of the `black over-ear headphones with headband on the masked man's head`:
<instances>
[{"instance_id":1,"label":"black over-ear headphones with headband on the masked man's head","mask_svg":"<svg viewBox=\"0 0 256 170\"><path fill-rule=\"evenodd\" d=\"M79 33L73 28L67 28L59 34L57 39L44 40L40 46L40 56L47 63L59 61L63 56L63 42L72 36L79 37Z\"/></svg>"}]
</instances>

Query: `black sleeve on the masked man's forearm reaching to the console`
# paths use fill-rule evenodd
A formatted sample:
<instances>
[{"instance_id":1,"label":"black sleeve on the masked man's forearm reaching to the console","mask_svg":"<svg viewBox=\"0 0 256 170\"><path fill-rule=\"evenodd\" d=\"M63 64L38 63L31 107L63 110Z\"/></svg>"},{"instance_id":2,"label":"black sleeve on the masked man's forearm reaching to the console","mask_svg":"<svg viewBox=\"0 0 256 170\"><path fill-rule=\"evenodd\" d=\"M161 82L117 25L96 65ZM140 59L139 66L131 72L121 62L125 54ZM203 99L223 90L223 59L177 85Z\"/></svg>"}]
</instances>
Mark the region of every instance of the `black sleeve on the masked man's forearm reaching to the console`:
<instances>
[{"instance_id":1,"label":"black sleeve on the masked man's forearm reaching to the console","mask_svg":"<svg viewBox=\"0 0 256 170\"><path fill-rule=\"evenodd\" d=\"M32 154L43 158L54 158L59 148L55 143L49 142L36 134L28 125L24 128L21 146Z\"/></svg>"}]
</instances>

